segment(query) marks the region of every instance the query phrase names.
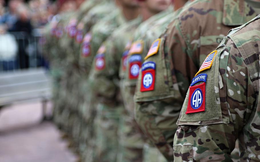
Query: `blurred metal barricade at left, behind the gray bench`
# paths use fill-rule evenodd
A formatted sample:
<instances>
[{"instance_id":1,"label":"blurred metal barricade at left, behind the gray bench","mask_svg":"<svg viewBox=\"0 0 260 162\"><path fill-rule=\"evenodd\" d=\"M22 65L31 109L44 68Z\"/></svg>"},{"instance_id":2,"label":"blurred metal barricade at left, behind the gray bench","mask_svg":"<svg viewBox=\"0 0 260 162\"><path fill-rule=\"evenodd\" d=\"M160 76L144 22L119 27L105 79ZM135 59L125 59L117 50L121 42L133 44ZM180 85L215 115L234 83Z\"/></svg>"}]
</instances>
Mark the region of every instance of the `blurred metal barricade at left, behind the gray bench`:
<instances>
[{"instance_id":1,"label":"blurred metal barricade at left, behind the gray bench","mask_svg":"<svg viewBox=\"0 0 260 162\"><path fill-rule=\"evenodd\" d=\"M42 45L39 43L41 34L38 30L34 29L31 35L26 32L9 32L0 35L0 72L48 66L42 56Z\"/></svg>"}]
</instances>

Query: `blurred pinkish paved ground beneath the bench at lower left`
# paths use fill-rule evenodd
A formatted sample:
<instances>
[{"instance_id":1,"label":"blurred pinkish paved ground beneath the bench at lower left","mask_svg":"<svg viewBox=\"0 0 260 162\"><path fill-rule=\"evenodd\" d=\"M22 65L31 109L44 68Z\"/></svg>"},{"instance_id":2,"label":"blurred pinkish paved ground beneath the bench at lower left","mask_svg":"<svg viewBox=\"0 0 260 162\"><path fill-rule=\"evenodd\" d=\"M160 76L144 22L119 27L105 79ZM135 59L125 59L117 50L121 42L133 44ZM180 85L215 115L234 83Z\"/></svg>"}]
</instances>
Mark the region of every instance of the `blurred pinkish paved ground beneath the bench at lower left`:
<instances>
[{"instance_id":1,"label":"blurred pinkish paved ground beneath the bench at lower left","mask_svg":"<svg viewBox=\"0 0 260 162\"><path fill-rule=\"evenodd\" d=\"M51 112L48 105L48 113ZM0 110L1 162L75 162L53 123L41 122L40 102L15 104Z\"/></svg>"}]
</instances>

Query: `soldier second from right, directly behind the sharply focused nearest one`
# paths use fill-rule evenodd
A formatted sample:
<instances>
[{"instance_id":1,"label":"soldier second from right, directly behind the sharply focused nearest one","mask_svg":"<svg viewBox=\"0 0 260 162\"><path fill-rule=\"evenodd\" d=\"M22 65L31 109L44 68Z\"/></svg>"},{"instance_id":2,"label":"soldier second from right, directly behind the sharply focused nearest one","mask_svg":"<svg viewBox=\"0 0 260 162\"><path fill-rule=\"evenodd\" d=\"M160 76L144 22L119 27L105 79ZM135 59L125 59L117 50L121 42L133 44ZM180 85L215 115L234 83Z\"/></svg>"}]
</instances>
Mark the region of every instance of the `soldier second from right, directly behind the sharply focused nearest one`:
<instances>
[{"instance_id":1,"label":"soldier second from right, directly behind the sharply focused nearest one","mask_svg":"<svg viewBox=\"0 0 260 162\"><path fill-rule=\"evenodd\" d=\"M135 90L135 119L169 161L191 79L225 33L255 15L243 0L194 1L151 46Z\"/></svg>"}]
</instances>

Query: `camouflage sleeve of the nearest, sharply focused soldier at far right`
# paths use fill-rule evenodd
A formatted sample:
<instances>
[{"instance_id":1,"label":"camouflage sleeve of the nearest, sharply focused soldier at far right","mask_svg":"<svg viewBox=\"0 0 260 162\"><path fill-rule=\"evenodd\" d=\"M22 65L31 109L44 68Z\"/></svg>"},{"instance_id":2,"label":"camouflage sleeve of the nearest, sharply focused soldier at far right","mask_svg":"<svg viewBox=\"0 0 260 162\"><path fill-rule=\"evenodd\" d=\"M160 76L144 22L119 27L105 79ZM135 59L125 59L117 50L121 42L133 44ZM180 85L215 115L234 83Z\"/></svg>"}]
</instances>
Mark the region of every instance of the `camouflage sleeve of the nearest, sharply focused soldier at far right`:
<instances>
[{"instance_id":1,"label":"camouflage sleeve of the nearest, sharply focused soldier at far right","mask_svg":"<svg viewBox=\"0 0 260 162\"><path fill-rule=\"evenodd\" d=\"M218 48L211 68L200 73L207 74L205 83L198 82L187 92L174 137L175 161L232 161L236 139L244 141L239 134L251 136L243 132L243 127L253 110L256 91L240 51L232 40L223 41L227 41L226 46ZM190 105L198 102L193 87L201 88L203 84L205 110L191 113ZM258 145L253 137L249 138L248 148ZM250 152L248 148L244 151Z\"/></svg>"}]
</instances>

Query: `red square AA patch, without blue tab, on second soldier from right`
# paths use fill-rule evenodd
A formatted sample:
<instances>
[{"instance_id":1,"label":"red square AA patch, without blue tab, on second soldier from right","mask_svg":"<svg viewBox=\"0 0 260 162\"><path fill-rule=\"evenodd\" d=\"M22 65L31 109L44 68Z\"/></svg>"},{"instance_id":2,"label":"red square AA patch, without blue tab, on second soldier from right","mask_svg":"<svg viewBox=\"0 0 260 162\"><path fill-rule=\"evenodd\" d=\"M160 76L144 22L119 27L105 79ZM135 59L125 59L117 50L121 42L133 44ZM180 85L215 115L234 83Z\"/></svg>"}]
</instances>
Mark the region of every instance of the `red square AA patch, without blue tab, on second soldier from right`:
<instances>
[{"instance_id":1,"label":"red square AA patch, without blue tab, on second soldier from right","mask_svg":"<svg viewBox=\"0 0 260 162\"><path fill-rule=\"evenodd\" d=\"M142 71L141 92L154 90L155 70Z\"/></svg>"}]
</instances>

